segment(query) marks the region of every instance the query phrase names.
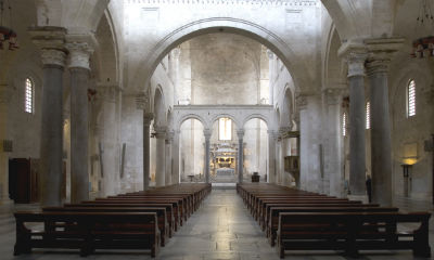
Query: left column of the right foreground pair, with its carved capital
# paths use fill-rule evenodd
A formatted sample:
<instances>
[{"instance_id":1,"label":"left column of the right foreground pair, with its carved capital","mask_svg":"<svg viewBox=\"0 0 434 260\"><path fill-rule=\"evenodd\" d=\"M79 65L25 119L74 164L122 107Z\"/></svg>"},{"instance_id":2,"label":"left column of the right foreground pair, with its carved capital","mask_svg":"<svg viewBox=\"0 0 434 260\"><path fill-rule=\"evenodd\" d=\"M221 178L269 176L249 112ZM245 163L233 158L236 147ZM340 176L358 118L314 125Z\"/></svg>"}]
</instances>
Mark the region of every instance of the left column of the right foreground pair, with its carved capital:
<instances>
[{"instance_id":1,"label":"left column of the right foreground pair, with its carved capital","mask_svg":"<svg viewBox=\"0 0 434 260\"><path fill-rule=\"evenodd\" d=\"M349 191L352 199L366 200L366 145L365 145L365 62L363 46L343 46L340 55L348 63L349 84Z\"/></svg>"}]
</instances>

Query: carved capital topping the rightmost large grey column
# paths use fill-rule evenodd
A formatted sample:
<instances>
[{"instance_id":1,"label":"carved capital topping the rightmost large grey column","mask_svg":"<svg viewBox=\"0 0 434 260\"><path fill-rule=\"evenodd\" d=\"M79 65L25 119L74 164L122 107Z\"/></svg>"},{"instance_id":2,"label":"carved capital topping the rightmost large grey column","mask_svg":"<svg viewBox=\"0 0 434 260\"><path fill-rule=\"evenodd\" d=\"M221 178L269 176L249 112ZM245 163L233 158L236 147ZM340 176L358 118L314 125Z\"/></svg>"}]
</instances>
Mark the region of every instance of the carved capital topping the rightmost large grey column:
<instances>
[{"instance_id":1,"label":"carved capital topping the rightmost large grey column","mask_svg":"<svg viewBox=\"0 0 434 260\"><path fill-rule=\"evenodd\" d=\"M403 46L404 38L367 39L369 55L367 60L368 74L387 73L394 53Z\"/></svg>"}]
</instances>

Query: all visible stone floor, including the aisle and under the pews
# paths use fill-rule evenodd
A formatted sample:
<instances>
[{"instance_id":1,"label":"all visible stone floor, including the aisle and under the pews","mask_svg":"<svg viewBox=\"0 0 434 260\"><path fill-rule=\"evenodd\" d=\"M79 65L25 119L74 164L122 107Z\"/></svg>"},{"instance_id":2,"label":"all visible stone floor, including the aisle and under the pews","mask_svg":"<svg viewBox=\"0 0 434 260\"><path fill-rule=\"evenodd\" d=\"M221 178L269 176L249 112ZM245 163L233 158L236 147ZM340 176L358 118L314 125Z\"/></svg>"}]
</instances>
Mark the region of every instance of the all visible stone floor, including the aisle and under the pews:
<instances>
[{"instance_id":1,"label":"all visible stone floor, including the aisle and under the pews","mask_svg":"<svg viewBox=\"0 0 434 260\"><path fill-rule=\"evenodd\" d=\"M395 203L404 210L430 210L432 205L396 198ZM31 255L12 256L15 242L12 211L23 207L0 208L0 259L82 259L76 251L34 250ZM25 208L28 208L26 206ZM434 248L434 223L430 223L430 243ZM286 252L286 259L347 259L334 251ZM87 259L151 259L145 251L98 251ZM279 259L244 207L234 190L213 190L202 207L176 233L156 259ZM412 259L411 251L362 251L359 259Z\"/></svg>"}]
</instances>

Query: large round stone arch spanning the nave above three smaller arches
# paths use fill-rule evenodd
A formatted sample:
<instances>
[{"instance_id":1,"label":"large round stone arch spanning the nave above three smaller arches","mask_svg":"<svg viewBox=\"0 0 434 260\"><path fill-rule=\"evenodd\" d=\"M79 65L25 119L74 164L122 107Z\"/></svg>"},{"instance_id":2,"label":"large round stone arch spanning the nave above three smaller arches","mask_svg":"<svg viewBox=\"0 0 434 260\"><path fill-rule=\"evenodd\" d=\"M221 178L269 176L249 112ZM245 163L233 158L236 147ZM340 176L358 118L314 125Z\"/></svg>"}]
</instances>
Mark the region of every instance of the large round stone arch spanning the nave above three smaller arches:
<instances>
[{"instance_id":1,"label":"large round stone arch spanning the nave above three smaller arches","mask_svg":"<svg viewBox=\"0 0 434 260\"><path fill-rule=\"evenodd\" d=\"M139 67L143 69L137 73L133 78L133 86L139 88L148 86L146 82L150 81L159 61L176 46L200 35L219 31L242 35L266 46L279 56L289 72L293 73L292 76L296 89L308 88L308 82L311 79L306 74L308 72L307 65L296 58L293 50L278 35L252 22L233 17L213 17L194 21L166 35L139 64Z\"/></svg>"}]
</instances>

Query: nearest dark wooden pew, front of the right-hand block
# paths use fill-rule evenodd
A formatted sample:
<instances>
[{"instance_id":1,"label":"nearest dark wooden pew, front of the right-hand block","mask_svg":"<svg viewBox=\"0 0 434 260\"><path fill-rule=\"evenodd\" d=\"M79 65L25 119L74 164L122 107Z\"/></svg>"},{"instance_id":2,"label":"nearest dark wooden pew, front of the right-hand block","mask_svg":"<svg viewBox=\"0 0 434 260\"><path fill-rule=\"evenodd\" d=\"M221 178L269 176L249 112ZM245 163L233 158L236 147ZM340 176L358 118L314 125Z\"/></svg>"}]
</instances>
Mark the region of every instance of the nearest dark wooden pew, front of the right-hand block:
<instances>
[{"instance_id":1,"label":"nearest dark wooden pew, front of the right-hand block","mask_svg":"<svg viewBox=\"0 0 434 260\"><path fill-rule=\"evenodd\" d=\"M279 214L278 251L411 249L417 257L431 257L429 212L284 212ZM419 223L409 232L397 232L399 223Z\"/></svg>"}]
</instances>

